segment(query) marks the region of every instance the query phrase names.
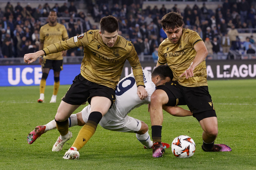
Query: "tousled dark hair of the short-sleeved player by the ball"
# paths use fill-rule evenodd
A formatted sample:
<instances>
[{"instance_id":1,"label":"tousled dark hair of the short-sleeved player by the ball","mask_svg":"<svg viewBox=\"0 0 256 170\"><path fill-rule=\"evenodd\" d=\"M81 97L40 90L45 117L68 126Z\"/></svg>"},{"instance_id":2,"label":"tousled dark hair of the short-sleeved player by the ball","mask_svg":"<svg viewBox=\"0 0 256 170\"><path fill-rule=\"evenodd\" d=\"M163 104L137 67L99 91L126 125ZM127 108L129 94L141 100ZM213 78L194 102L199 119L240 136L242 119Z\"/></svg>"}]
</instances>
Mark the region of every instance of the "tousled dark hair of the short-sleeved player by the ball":
<instances>
[{"instance_id":1,"label":"tousled dark hair of the short-sleeved player by the ball","mask_svg":"<svg viewBox=\"0 0 256 170\"><path fill-rule=\"evenodd\" d=\"M161 19L161 25L165 30L181 27L183 25L183 16L179 12L169 12Z\"/></svg>"}]
</instances>

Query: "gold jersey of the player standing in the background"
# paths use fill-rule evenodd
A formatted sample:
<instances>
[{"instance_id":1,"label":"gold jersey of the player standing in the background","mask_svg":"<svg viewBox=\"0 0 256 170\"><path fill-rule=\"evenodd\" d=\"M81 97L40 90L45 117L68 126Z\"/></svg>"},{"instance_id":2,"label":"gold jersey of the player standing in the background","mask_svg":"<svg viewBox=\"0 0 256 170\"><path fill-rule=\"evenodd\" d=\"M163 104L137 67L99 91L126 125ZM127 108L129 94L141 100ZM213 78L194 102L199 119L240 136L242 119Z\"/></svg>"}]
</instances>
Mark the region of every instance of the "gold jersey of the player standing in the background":
<instances>
[{"instance_id":1,"label":"gold jersey of the player standing in the background","mask_svg":"<svg viewBox=\"0 0 256 170\"><path fill-rule=\"evenodd\" d=\"M43 49L48 47L49 45L59 42L62 40L68 39L68 33L64 25L57 23L55 26L50 26L49 24L45 24L40 28L40 41L44 42ZM50 60L62 60L62 54L55 53L44 56L45 59Z\"/></svg>"}]
</instances>

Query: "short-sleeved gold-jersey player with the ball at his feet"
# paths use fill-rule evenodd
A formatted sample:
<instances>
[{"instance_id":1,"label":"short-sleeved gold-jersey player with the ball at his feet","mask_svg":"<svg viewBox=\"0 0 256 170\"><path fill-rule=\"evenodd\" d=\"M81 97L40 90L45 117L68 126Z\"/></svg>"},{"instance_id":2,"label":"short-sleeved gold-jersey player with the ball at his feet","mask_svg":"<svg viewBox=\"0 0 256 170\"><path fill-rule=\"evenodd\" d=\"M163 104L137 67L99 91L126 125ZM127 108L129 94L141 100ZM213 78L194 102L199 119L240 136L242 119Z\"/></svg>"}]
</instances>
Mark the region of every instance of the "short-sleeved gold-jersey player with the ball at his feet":
<instances>
[{"instance_id":1,"label":"short-sleeved gold-jersey player with the ball at his feet","mask_svg":"<svg viewBox=\"0 0 256 170\"><path fill-rule=\"evenodd\" d=\"M158 86L151 96L150 118L153 157L162 157L161 144L163 105L187 105L203 129L204 151L231 151L225 144L214 144L218 135L215 108L208 92L205 58L208 51L204 42L190 29L183 29L180 13L170 12L161 20L167 38L160 44L156 66L167 64L173 81Z\"/></svg>"}]
</instances>

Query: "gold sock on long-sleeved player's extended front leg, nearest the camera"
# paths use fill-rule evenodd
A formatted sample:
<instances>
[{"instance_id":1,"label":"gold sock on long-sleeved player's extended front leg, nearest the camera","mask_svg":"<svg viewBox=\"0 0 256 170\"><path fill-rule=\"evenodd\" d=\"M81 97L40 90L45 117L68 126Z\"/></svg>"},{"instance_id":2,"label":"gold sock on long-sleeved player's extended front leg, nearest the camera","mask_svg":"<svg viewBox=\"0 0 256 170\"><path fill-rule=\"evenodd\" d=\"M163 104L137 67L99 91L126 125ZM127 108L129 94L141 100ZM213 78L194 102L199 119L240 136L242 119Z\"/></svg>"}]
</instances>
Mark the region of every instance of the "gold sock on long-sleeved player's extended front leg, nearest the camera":
<instances>
[{"instance_id":1,"label":"gold sock on long-sleeved player's extended front leg, nearest the camera","mask_svg":"<svg viewBox=\"0 0 256 170\"><path fill-rule=\"evenodd\" d=\"M87 143L87 141L89 141L89 139L95 133L97 125L98 124L94 121L87 121L87 123L82 127L72 145L73 147L77 148L77 151L79 151Z\"/></svg>"}]
</instances>

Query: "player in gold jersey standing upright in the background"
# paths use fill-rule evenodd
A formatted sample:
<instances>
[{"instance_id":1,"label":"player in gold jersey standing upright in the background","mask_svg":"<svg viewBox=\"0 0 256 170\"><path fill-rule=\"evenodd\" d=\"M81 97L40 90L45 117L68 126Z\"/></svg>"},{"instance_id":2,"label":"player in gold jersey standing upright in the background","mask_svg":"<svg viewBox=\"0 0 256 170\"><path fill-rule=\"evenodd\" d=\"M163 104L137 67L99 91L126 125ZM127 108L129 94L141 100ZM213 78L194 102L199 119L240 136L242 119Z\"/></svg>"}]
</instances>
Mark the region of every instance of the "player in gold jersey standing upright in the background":
<instances>
[{"instance_id":1,"label":"player in gold jersey standing upright in the background","mask_svg":"<svg viewBox=\"0 0 256 170\"><path fill-rule=\"evenodd\" d=\"M40 28L40 43L39 50L62 40L69 38L67 30L64 25L57 22L57 13L50 11L48 15L49 23L45 24ZM41 56L39 58L39 64L42 67L42 78L40 82L40 98L37 100L38 103L44 102L44 90L46 86L46 79L49 71L52 69L54 74L53 94L50 103L56 103L56 97L59 90L59 75L63 69L63 57L66 55L66 51L49 54L47 56Z\"/></svg>"}]
</instances>

